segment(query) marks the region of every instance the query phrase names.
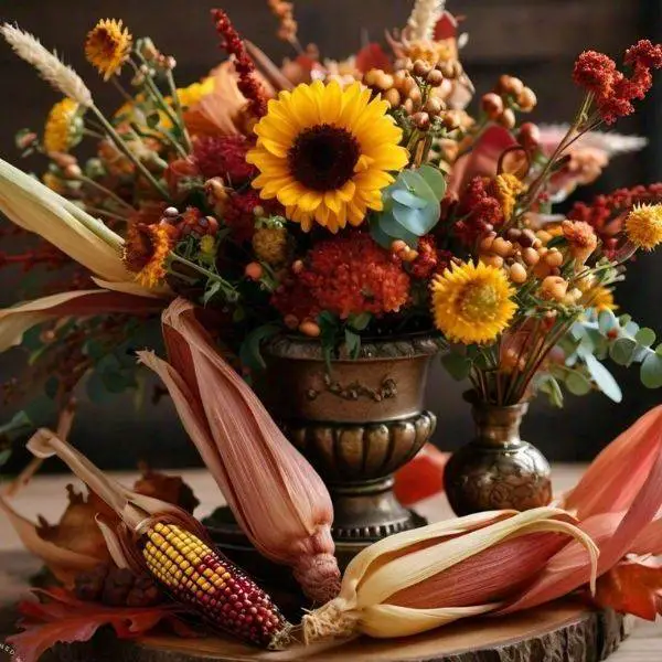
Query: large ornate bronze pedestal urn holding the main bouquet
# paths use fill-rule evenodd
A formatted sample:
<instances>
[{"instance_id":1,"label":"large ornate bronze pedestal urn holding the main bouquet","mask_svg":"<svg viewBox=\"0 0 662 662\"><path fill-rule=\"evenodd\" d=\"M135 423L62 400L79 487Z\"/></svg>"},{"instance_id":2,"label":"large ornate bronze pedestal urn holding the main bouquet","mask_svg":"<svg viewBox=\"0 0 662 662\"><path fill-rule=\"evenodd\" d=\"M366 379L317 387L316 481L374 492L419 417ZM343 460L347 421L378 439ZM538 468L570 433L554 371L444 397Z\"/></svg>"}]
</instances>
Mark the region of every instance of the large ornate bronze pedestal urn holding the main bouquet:
<instances>
[{"instance_id":1,"label":"large ornate bronze pedestal urn holding the main bouquet","mask_svg":"<svg viewBox=\"0 0 662 662\"><path fill-rule=\"evenodd\" d=\"M424 523L396 500L393 473L435 429L423 397L437 351L426 335L364 342L357 357L327 364L316 341L279 337L266 348L260 397L329 487L341 562Z\"/></svg>"}]
</instances>

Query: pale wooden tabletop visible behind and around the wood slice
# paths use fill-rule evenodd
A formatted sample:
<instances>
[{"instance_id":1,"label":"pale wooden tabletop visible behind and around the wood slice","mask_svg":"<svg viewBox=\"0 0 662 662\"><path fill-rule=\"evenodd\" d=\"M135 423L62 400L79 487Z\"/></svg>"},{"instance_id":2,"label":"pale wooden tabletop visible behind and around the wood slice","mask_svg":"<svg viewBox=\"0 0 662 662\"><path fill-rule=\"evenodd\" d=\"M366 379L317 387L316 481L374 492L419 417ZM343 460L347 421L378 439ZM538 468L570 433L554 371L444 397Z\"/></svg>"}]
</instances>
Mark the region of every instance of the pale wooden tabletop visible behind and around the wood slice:
<instances>
[{"instance_id":1,"label":"pale wooden tabletop visible behind and around the wood slice","mask_svg":"<svg viewBox=\"0 0 662 662\"><path fill-rule=\"evenodd\" d=\"M584 467L580 465L557 465L554 467L554 489L556 493L572 488ZM174 473L174 472L173 472ZM196 515L203 516L223 503L216 483L203 470L185 470L184 480L193 488L201 504ZM121 482L130 485L135 473L116 473ZM38 476L21 492L13 504L23 515L34 519L43 515L49 522L57 522L66 503L65 485L76 484L70 474ZM450 509L444 496L429 499L417 509L431 521L450 516ZM0 604L14 602L25 594L25 579L39 568L39 562L28 555L9 522L0 514ZM1 631L7 633L8 624L0 623ZM10 660L2 652L3 637L0 633L0 660ZM639 622L632 636L621 645L619 651L609 658L610 662L662 662L662 622ZM15 661L14 661L15 662ZM90 660L89 662L94 662Z\"/></svg>"}]
</instances>

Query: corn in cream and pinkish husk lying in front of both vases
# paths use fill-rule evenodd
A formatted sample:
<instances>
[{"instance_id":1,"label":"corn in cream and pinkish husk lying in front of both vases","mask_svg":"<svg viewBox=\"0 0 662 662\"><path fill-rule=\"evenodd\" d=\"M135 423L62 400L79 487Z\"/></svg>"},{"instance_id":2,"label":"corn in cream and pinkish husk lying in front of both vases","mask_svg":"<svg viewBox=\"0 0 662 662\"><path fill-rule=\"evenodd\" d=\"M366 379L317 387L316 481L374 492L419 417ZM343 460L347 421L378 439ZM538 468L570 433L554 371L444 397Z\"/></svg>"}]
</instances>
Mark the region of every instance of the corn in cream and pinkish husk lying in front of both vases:
<instances>
[{"instance_id":1,"label":"corn in cream and pinkish husk lying in front of both vases","mask_svg":"<svg viewBox=\"0 0 662 662\"><path fill-rule=\"evenodd\" d=\"M405 637L493 611L568 538L595 577L597 547L560 509L481 513L389 536L350 563L338 598L303 618L305 638Z\"/></svg>"}]
</instances>

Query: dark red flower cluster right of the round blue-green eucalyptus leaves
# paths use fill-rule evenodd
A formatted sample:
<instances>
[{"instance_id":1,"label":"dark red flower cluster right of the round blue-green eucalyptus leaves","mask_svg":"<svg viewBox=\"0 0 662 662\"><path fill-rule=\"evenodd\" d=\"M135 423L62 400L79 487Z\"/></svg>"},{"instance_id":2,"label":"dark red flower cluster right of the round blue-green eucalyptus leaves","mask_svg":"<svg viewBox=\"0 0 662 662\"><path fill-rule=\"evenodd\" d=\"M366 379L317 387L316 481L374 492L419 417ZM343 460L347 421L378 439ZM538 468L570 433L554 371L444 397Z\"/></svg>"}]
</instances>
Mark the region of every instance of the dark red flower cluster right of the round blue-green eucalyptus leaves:
<instances>
[{"instance_id":1,"label":"dark red flower cluster right of the round blue-green eucalyptus leaves","mask_svg":"<svg viewBox=\"0 0 662 662\"><path fill-rule=\"evenodd\" d=\"M460 218L455 224L455 234L466 246L473 246L481 235L503 223L501 202L490 194L481 177L469 182L455 212Z\"/></svg>"}]
</instances>

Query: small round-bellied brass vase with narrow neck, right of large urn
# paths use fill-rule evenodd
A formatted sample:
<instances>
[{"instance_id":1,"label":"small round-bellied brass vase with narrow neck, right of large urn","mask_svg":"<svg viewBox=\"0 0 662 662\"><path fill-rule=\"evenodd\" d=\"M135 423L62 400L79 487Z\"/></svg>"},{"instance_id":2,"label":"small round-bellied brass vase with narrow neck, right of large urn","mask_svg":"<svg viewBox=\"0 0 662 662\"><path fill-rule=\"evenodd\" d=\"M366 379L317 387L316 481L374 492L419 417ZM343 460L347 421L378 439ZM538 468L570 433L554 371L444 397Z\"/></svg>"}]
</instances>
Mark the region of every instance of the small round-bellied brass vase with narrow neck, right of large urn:
<instances>
[{"instance_id":1,"label":"small round-bellied brass vase with narrow neck, right of large urn","mask_svg":"<svg viewBox=\"0 0 662 662\"><path fill-rule=\"evenodd\" d=\"M527 409L528 403L472 404L477 436L451 456L444 473L446 494L457 515L524 511L549 503L549 463L537 448L520 438Z\"/></svg>"}]
</instances>

